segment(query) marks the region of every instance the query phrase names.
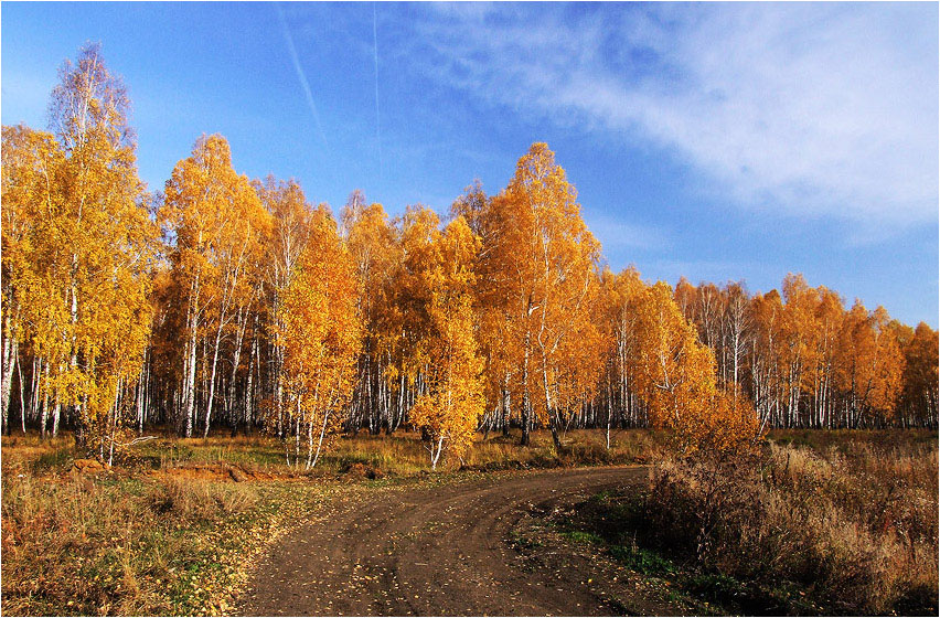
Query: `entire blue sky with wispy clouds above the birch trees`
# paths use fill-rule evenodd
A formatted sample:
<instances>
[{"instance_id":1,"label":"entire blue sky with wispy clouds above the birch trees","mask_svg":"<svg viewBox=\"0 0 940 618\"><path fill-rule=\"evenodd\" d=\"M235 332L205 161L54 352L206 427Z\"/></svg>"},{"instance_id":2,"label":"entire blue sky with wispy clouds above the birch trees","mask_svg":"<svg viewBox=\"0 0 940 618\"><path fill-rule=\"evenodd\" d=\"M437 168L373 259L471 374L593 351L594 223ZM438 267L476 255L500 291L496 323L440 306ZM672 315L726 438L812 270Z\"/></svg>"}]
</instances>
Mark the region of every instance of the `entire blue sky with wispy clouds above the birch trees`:
<instances>
[{"instance_id":1,"label":"entire blue sky with wispy clouds above the birch trees","mask_svg":"<svg viewBox=\"0 0 940 618\"><path fill-rule=\"evenodd\" d=\"M615 269L788 271L938 326L938 6L3 2L4 125L46 125L99 41L161 189L203 132L236 169L396 214L503 188L534 141Z\"/></svg>"}]
</instances>

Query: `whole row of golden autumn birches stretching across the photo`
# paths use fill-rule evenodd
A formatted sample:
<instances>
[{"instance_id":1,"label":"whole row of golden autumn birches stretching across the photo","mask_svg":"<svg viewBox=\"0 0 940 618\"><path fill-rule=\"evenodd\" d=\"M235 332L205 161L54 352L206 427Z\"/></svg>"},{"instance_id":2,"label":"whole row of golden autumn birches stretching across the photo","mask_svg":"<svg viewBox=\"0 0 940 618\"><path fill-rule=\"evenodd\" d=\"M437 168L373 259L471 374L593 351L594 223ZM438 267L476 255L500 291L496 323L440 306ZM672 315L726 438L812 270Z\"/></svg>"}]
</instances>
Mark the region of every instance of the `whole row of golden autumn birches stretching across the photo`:
<instances>
[{"instance_id":1,"label":"whole row of golden autumn birches stretching across the photo","mask_svg":"<svg viewBox=\"0 0 940 618\"><path fill-rule=\"evenodd\" d=\"M334 215L250 180L202 136L162 193L97 46L50 130L2 131L3 430L110 457L150 425L266 430L316 465L339 431L419 428L432 465L476 431L669 427L723 447L768 427L937 427L938 333L788 275L782 294L612 273L535 143L446 219Z\"/></svg>"}]
</instances>

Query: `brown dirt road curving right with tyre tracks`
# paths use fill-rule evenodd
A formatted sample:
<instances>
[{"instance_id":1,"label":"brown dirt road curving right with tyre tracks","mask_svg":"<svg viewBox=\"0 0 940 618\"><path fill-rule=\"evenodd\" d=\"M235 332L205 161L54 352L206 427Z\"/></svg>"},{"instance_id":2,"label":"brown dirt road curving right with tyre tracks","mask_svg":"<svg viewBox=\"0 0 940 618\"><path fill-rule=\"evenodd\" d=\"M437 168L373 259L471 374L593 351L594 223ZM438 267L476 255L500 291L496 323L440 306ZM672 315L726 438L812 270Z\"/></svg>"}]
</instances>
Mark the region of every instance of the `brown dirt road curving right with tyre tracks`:
<instances>
[{"instance_id":1,"label":"brown dirt road curving right with tyre tracks","mask_svg":"<svg viewBox=\"0 0 940 618\"><path fill-rule=\"evenodd\" d=\"M241 614L589 616L623 611L585 586L591 558L533 567L513 548L532 512L645 478L643 467L584 468L331 500L261 562ZM548 554L554 547L540 547Z\"/></svg>"}]
</instances>

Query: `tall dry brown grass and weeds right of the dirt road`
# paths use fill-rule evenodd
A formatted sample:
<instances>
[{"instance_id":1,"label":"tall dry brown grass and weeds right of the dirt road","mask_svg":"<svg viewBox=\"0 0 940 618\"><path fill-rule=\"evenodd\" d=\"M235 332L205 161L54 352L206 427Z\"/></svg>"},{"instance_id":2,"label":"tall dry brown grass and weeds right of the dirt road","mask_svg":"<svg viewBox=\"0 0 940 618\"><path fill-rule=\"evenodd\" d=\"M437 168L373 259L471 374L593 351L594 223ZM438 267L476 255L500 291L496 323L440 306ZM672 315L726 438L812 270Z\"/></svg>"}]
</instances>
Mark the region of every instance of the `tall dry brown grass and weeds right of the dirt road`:
<instances>
[{"instance_id":1,"label":"tall dry brown grass and weeds right of the dirt road","mask_svg":"<svg viewBox=\"0 0 940 618\"><path fill-rule=\"evenodd\" d=\"M660 545L704 571L792 585L826 612L937 611L936 434L666 460L644 507Z\"/></svg>"}]
</instances>

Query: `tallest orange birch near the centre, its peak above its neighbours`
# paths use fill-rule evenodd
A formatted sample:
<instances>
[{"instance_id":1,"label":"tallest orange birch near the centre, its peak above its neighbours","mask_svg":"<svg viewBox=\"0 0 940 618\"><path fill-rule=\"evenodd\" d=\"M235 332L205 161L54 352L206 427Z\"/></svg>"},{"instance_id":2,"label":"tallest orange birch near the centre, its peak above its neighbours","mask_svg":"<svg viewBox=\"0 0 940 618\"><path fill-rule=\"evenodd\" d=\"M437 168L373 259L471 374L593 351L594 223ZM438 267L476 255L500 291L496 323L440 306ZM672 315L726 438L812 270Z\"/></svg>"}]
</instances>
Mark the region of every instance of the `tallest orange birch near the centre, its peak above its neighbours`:
<instances>
[{"instance_id":1,"label":"tallest orange birch near the centre, its peak above its neighbours","mask_svg":"<svg viewBox=\"0 0 940 618\"><path fill-rule=\"evenodd\" d=\"M545 143L534 143L516 164L506 190L489 207L493 230L491 298L501 297L508 344L521 356L513 375L521 392L523 436L530 414L547 422L556 448L565 404L555 395L565 343L590 330L600 245L580 216L576 191ZM521 353L519 353L521 352ZM572 366L575 366L572 364ZM538 393L538 397L533 397Z\"/></svg>"}]
</instances>

